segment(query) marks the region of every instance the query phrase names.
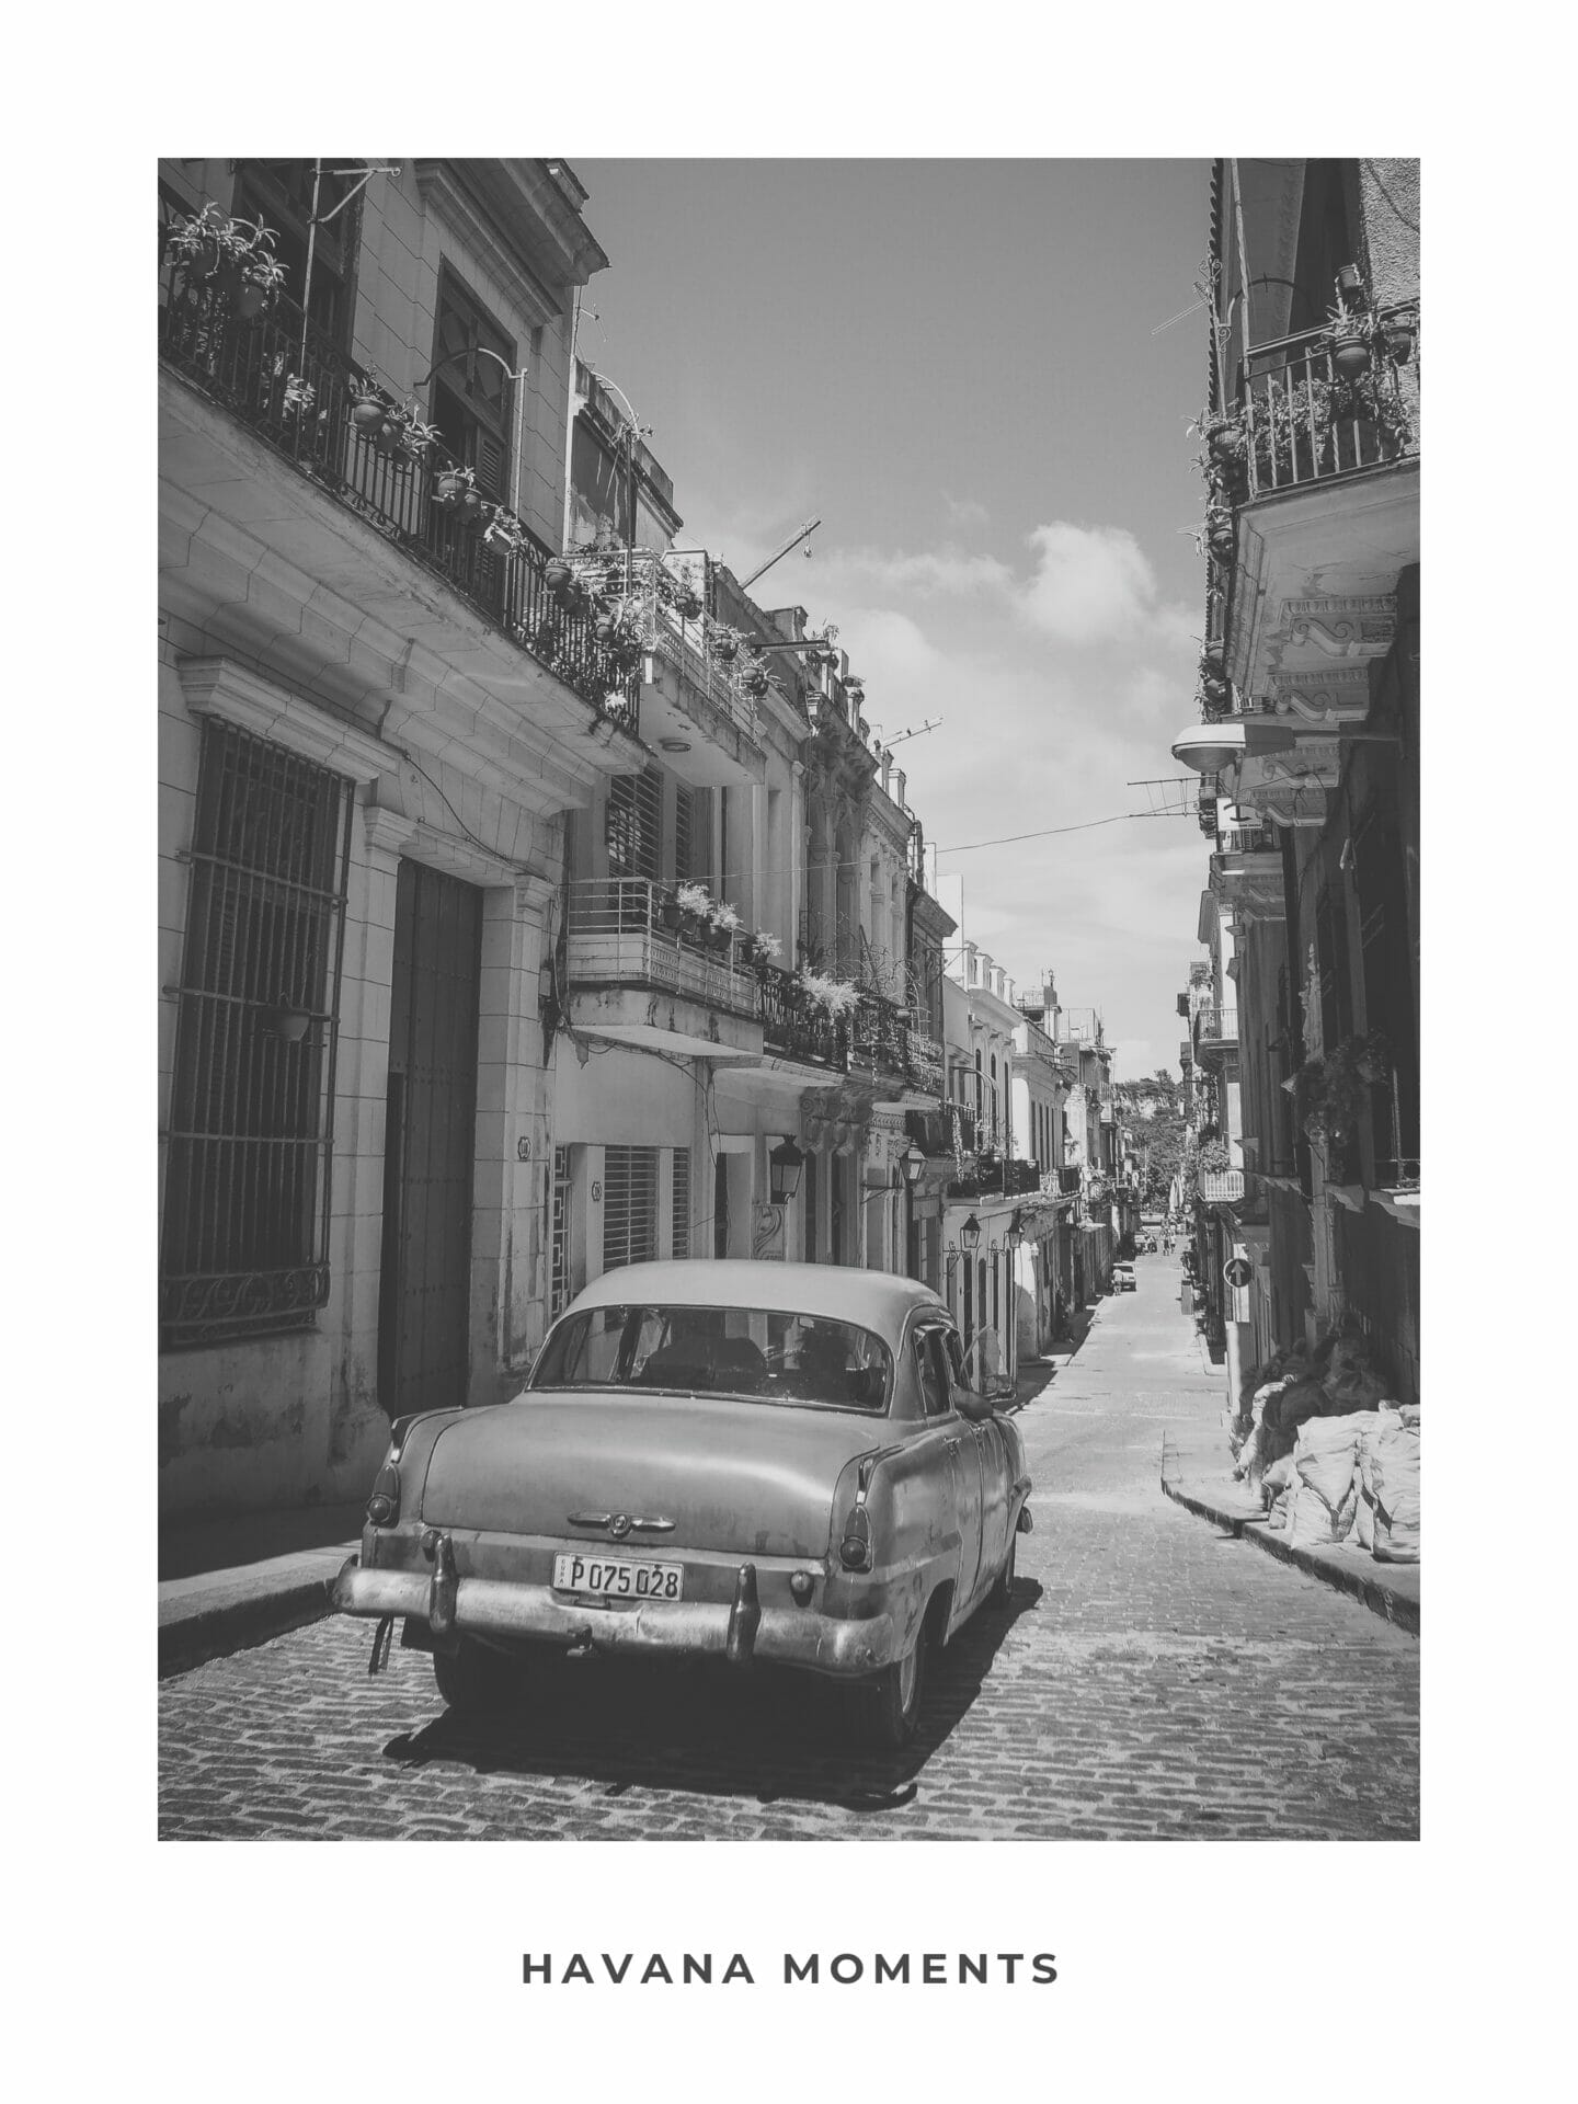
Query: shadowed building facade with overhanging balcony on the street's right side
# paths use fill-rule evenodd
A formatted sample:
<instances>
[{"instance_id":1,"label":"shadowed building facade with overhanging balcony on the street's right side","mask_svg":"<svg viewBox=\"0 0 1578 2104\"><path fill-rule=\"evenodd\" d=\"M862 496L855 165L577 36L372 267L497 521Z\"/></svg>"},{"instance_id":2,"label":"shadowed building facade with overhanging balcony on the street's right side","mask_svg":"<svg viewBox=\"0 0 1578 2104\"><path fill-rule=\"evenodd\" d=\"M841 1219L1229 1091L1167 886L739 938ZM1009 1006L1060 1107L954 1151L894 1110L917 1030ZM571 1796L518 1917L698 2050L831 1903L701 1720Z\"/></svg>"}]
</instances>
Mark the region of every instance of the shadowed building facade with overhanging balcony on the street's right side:
<instances>
[{"instance_id":1,"label":"shadowed building facade with overhanging balcony on the street's right side","mask_svg":"<svg viewBox=\"0 0 1578 2104\"><path fill-rule=\"evenodd\" d=\"M1201 722L1174 751L1212 837L1193 1050L1243 1187L1201 1283L1231 1365L1342 1321L1412 1403L1418 164L1218 162L1212 261Z\"/></svg>"}]
</instances>

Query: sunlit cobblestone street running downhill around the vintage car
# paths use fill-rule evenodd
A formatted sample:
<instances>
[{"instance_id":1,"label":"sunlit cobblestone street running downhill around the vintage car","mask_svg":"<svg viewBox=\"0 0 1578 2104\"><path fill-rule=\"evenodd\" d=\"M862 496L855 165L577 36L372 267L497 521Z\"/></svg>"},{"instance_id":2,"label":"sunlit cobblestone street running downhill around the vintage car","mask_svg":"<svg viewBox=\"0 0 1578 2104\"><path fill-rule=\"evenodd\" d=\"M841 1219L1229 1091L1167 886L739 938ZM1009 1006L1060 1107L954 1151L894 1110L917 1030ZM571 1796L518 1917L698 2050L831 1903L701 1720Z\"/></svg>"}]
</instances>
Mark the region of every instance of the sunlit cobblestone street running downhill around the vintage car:
<instances>
[{"instance_id":1,"label":"sunlit cobblestone street running downhill around the vintage car","mask_svg":"<svg viewBox=\"0 0 1578 2104\"><path fill-rule=\"evenodd\" d=\"M1012 1610L936 1660L917 1742L854 1755L797 1679L570 1660L509 1721L326 1620L160 1685L160 1833L410 1839L1408 1839L1418 1641L1159 1490L1222 1374L1138 1260L1023 1408Z\"/></svg>"}]
</instances>

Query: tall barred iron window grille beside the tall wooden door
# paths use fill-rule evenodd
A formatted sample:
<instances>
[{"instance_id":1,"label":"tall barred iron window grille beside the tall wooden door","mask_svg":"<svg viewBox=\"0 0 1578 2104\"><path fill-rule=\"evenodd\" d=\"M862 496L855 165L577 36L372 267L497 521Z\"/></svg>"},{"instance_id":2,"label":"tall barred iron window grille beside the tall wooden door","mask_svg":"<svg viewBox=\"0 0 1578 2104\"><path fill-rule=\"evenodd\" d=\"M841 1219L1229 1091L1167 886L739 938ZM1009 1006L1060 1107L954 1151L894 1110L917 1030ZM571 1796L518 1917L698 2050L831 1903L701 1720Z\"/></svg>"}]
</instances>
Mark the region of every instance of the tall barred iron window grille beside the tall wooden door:
<instances>
[{"instance_id":1,"label":"tall barred iron window grille beside the tall wooden door","mask_svg":"<svg viewBox=\"0 0 1578 2104\"><path fill-rule=\"evenodd\" d=\"M353 783L204 724L170 1084L160 1342L309 1330L328 1300Z\"/></svg>"}]
</instances>

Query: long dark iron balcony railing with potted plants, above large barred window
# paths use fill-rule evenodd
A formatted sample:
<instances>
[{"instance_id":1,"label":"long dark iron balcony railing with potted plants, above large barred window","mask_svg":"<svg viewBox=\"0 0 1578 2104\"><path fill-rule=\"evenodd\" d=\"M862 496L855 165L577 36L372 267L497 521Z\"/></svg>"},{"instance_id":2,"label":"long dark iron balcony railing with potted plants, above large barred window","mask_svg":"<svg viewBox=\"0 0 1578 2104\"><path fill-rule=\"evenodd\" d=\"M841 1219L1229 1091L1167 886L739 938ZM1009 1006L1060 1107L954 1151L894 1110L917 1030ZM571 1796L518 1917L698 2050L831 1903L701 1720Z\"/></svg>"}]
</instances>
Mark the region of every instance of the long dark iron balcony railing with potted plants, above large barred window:
<instances>
[{"instance_id":1,"label":"long dark iron balcony railing with potted plants, above large barred window","mask_svg":"<svg viewBox=\"0 0 1578 2104\"><path fill-rule=\"evenodd\" d=\"M566 612L547 591L547 547L530 537L499 549L478 526L436 501L448 463L383 450L351 410L368 375L301 309L280 299L257 318L236 307L219 278L164 263L160 356L194 387L223 402L257 438L320 484L469 606L528 650L602 715L638 732L640 675L621 669L589 612Z\"/></svg>"}]
</instances>

